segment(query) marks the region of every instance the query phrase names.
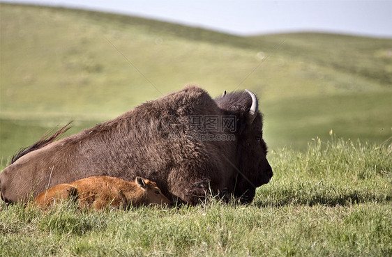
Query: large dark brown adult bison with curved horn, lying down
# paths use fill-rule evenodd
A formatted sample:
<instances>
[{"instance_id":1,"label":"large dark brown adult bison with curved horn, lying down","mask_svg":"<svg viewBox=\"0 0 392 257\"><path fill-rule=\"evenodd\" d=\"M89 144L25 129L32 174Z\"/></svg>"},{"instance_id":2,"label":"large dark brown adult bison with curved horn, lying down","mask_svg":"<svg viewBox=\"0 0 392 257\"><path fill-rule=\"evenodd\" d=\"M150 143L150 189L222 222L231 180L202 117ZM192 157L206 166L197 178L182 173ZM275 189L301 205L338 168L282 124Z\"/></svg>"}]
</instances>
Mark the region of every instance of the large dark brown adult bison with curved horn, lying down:
<instances>
[{"instance_id":1,"label":"large dark brown adult bison with curved horn, lying down","mask_svg":"<svg viewBox=\"0 0 392 257\"><path fill-rule=\"evenodd\" d=\"M272 169L262 115L250 91L213 100L196 86L146 102L59 141L40 139L0 173L1 198L27 201L90 176L153 180L165 196L195 204L206 194L252 201Z\"/></svg>"}]
</instances>

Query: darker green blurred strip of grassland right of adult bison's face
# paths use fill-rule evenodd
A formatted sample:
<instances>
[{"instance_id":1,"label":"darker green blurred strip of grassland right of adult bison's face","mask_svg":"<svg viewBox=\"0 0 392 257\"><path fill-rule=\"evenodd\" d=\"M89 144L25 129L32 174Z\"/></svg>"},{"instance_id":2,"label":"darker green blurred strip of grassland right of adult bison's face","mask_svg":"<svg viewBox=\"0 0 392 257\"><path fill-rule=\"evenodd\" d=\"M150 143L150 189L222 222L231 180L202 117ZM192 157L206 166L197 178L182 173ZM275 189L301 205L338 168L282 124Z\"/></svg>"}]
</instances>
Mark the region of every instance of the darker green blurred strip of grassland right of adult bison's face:
<instances>
[{"instance_id":1,"label":"darker green blurred strip of grassland right of adult bison's face","mask_svg":"<svg viewBox=\"0 0 392 257\"><path fill-rule=\"evenodd\" d=\"M391 95L384 93L296 98L286 100L285 104L267 102L264 138L267 144L272 142L269 145L272 149L292 146L304 150L310 139L327 140L329 131L333 130L353 141L381 143L380 139L391 137L392 106L388 108L391 102Z\"/></svg>"}]
</instances>

